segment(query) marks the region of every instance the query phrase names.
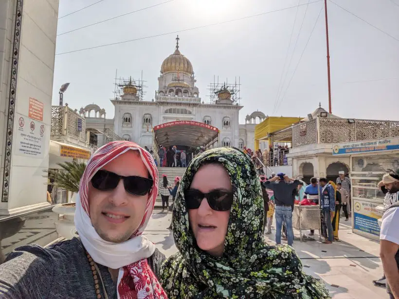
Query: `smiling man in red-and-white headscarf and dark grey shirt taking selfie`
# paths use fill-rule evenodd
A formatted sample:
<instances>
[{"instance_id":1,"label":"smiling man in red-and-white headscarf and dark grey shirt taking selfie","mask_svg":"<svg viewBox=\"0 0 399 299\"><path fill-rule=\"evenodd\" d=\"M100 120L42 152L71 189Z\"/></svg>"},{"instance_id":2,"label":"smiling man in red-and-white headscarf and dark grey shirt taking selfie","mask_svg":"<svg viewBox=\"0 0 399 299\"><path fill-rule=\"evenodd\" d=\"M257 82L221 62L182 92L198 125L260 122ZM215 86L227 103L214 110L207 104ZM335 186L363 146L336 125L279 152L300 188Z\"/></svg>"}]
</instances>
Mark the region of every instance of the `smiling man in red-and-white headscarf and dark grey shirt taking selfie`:
<instances>
[{"instance_id":1,"label":"smiling man in red-and-white headscarf and dark grey shirt taking selfie","mask_svg":"<svg viewBox=\"0 0 399 299\"><path fill-rule=\"evenodd\" d=\"M11 252L0 265L0 298L166 299L156 277L165 257L142 235L157 193L148 151L129 141L98 149L76 198L79 238Z\"/></svg>"}]
</instances>

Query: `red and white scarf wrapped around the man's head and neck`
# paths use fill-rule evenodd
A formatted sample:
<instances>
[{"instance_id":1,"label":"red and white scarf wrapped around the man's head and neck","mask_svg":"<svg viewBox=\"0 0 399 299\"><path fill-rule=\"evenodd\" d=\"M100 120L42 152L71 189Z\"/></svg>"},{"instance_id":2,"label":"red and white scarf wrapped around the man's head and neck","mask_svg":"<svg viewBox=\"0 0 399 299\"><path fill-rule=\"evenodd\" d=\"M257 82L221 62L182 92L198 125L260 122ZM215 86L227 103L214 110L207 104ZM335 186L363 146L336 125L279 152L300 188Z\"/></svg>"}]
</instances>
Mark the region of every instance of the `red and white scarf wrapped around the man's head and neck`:
<instances>
[{"instance_id":1,"label":"red and white scarf wrapped around the man's head and neck","mask_svg":"<svg viewBox=\"0 0 399 299\"><path fill-rule=\"evenodd\" d=\"M139 151L154 183L137 231L127 241L113 243L103 240L91 224L89 183L99 169L128 150ZM95 262L112 269L119 268L118 299L167 299L166 293L147 263L147 258L155 251L155 245L142 235L154 209L157 194L158 169L154 159L148 151L129 141L110 142L96 150L80 180L74 217L76 230L85 249ZM134 289L130 287L131 281L134 283Z\"/></svg>"}]
</instances>

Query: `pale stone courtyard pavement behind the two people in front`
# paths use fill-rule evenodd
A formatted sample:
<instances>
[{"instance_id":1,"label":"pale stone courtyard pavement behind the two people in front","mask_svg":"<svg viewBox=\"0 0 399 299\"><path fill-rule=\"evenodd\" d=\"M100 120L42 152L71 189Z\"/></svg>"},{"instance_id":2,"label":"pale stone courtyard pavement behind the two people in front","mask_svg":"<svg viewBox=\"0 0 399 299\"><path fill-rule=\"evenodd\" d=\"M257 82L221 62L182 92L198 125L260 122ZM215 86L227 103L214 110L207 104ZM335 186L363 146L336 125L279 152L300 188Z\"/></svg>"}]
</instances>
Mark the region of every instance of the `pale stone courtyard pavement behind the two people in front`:
<instances>
[{"instance_id":1,"label":"pale stone courtyard pavement behind the two people in front","mask_svg":"<svg viewBox=\"0 0 399 299\"><path fill-rule=\"evenodd\" d=\"M177 252L173 234L167 230L171 216L170 212L155 211L145 230L145 235L166 256ZM299 237L298 231L294 230L294 234ZM334 299L389 298L385 288L374 286L372 282L382 275L379 243L352 233L345 225L340 226L339 236L342 241L331 245L294 241L293 247L302 260L304 271L321 278ZM275 244L274 233L265 235L265 239L270 245Z\"/></svg>"}]
</instances>

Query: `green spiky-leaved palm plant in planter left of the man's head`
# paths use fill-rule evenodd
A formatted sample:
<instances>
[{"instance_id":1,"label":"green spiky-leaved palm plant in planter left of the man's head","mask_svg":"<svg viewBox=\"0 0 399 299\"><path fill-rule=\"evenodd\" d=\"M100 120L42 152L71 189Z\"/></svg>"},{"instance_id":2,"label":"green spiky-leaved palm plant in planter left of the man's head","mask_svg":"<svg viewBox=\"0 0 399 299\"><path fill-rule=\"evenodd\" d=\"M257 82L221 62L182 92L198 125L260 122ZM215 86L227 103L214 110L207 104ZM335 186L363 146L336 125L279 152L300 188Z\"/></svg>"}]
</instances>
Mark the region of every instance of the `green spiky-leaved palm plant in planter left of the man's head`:
<instances>
[{"instance_id":1,"label":"green spiky-leaved palm plant in planter left of the man's head","mask_svg":"<svg viewBox=\"0 0 399 299\"><path fill-rule=\"evenodd\" d=\"M50 180L50 183L48 184L71 192L78 192L80 178L83 176L86 164L73 161L57 163L57 165L60 166L61 169L45 170L48 175L44 177L49 178Z\"/></svg>"}]
</instances>

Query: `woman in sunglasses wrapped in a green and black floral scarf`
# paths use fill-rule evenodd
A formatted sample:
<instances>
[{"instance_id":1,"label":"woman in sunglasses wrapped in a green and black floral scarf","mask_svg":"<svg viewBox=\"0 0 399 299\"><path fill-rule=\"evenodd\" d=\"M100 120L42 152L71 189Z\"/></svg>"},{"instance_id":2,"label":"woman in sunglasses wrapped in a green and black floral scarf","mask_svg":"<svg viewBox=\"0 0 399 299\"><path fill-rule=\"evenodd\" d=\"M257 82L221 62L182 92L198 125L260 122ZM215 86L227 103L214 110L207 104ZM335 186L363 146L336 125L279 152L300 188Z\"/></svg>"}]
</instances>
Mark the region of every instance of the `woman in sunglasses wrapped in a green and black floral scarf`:
<instances>
[{"instance_id":1,"label":"woman in sunglasses wrapped in a green and black floral scarf","mask_svg":"<svg viewBox=\"0 0 399 299\"><path fill-rule=\"evenodd\" d=\"M204 199L206 197L206 199ZM259 177L235 148L207 150L187 167L172 227L179 252L163 264L169 299L328 299L289 246L268 246Z\"/></svg>"}]
</instances>

